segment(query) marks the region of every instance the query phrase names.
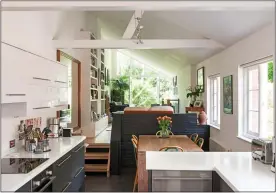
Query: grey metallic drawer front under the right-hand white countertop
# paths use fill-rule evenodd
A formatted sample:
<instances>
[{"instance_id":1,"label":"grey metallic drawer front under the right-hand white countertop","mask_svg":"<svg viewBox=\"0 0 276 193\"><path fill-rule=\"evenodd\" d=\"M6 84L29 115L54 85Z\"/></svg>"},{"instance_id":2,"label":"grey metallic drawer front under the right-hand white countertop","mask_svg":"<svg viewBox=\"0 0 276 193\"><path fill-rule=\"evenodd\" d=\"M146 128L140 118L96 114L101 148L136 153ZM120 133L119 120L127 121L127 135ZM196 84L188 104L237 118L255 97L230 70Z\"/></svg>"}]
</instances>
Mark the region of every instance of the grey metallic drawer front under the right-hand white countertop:
<instances>
[{"instance_id":1,"label":"grey metallic drawer front under the right-hand white countertop","mask_svg":"<svg viewBox=\"0 0 276 193\"><path fill-rule=\"evenodd\" d=\"M153 192L212 192L210 171L152 171Z\"/></svg>"}]
</instances>

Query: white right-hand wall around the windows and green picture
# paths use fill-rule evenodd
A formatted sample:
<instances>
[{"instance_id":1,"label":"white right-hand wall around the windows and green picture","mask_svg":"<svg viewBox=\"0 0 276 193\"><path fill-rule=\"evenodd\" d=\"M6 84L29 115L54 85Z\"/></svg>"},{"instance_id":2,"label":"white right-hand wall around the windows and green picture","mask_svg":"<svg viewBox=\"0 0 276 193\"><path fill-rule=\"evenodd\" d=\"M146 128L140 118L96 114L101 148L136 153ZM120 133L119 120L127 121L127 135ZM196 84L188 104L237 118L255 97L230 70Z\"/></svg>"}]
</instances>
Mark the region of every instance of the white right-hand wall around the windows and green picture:
<instances>
[{"instance_id":1,"label":"white right-hand wall around the windows and green picture","mask_svg":"<svg viewBox=\"0 0 276 193\"><path fill-rule=\"evenodd\" d=\"M231 33L231 32L229 32ZM220 73L221 77L233 75L233 115L223 113L223 100L221 92L221 126L220 130L211 128L211 137L226 148L233 151L250 151L251 144L237 138L239 119L238 112L238 76L239 66L266 56L274 54L274 28L269 25L260 31L239 41L221 53L199 63L196 68L205 67L205 82L207 77ZM193 72L196 76L196 72ZM221 78L222 81L222 78ZM223 89L221 83L221 91ZM208 87L207 89L208 90ZM203 99L207 106L207 92Z\"/></svg>"}]
</instances>

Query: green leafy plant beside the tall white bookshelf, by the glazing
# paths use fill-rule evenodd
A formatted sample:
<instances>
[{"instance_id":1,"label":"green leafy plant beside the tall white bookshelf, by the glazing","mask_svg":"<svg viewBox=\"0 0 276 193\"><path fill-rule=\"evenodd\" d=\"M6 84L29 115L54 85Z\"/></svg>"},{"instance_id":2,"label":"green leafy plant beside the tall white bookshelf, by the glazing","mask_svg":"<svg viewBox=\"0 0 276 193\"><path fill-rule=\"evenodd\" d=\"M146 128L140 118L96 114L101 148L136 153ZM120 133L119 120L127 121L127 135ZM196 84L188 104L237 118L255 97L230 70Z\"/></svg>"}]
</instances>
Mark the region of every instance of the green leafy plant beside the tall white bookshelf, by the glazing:
<instances>
[{"instance_id":1,"label":"green leafy plant beside the tall white bookshelf, by the glazing","mask_svg":"<svg viewBox=\"0 0 276 193\"><path fill-rule=\"evenodd\" d=\"M111 100L124 104L125 91L129 89L129 77L119 76L111 79Z\"/></svg>"}]
</instances>

